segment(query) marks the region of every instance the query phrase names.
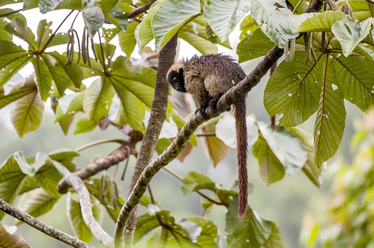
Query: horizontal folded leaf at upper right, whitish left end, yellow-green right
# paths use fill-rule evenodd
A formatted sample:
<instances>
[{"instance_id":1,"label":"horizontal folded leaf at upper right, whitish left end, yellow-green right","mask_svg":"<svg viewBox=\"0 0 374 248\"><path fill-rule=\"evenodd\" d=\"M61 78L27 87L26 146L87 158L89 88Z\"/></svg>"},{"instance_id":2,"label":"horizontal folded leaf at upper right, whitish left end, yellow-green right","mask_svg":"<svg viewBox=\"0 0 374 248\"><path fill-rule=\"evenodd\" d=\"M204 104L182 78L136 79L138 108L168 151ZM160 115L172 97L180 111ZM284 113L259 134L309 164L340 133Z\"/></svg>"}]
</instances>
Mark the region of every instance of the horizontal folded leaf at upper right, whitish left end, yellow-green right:
<instances>
[{"instance_id":1,"label":"horizontal folded leaf at upper right, whitish left end, yellow-green right","mask_svg":"<svg viewBox=\"0 0 374 248\"><path fill-rule=\"evenodd\" d=\"M288 22L292 32L318 32L331 31L335 22L350 19L346 15L338 11L326 11L322 13L304 13L288 17Z\"/></svg>"}]
</instances>

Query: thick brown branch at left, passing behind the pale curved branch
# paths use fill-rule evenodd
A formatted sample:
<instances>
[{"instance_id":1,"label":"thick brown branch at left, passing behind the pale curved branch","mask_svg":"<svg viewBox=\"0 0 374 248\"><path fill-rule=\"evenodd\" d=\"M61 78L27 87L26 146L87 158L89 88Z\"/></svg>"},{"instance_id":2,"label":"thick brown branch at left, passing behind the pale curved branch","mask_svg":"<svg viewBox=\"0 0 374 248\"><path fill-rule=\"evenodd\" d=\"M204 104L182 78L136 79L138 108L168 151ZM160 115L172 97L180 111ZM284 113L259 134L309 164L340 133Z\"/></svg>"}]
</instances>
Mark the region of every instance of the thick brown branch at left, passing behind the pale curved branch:
<instances>
[{"instance_id":1,"label":"thick brown branch at left, passing behind the pale curved branch","mask_svg":"<svg viewBox=\"0 0 374 248\"><path fill-rule=\"evenodd\" d=\"M135 148L131 148L131 154L136 154L137 151ZM113 155L109 155L104 158L99 158L91 164L88 164L81 170L74 172L74 175L78 176L80 179L85 180L90 176L95 175L96 173L108 169L109 167L113 166L114 164L118 164L120 161L123 161L127 158L128 150L124 149L115 153ZM61 194L66 194L70 188L70 185L67 183L66 176L62 178L57 185L57 190Z\"/></svg>"}]
</instances>

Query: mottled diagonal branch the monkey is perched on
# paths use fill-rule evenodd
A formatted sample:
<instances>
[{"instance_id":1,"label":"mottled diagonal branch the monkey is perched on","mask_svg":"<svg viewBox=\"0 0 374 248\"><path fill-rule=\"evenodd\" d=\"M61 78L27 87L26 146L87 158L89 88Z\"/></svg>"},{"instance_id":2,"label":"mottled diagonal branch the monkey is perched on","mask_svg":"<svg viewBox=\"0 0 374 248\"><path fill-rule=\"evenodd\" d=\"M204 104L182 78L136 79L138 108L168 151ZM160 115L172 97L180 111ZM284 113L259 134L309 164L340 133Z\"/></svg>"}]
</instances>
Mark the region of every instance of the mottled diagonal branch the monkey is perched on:
<instances>
[{"instance_id":1,"label":"mottled diagonal branch the monkey is perched on","mask_svg":"<svg viewBox=\"0 0 374 248\"><path fill-rule=\"evenodd\" d=\"M318 12L321 10L322 1L312 0L309 4L306 13ZM231 106L235 101L243 97L248 93L253 87L255 87L260 79L266 74L266 72L278 61L278 59L283 55L283 49L274 46L261 60L260 63L249 73L239 84L232 87L227 91L217 103L217 112L213 112L212 109L208 108L206 114L209 116L208 119L212 117L217 117L219 114L226 111L228 107ZM184 149L188 139L196 131L200 124L206 122L208 119L204 119L200 114L197 116L192 116L190 120L184 125L182 130L174 139L172 144L166 148L166 150L158 156L155 160L151 161L141 173L140 178L132 190L131 194L123 205L117 223L115 232L119 232L123 225L125 225L128 220L131 211L138 205L142 195L147 189L147 185L153 176L164 166L174 160L178 154ZM116 242L116 236L114 241Z\"/></svg>"}]
</instances>

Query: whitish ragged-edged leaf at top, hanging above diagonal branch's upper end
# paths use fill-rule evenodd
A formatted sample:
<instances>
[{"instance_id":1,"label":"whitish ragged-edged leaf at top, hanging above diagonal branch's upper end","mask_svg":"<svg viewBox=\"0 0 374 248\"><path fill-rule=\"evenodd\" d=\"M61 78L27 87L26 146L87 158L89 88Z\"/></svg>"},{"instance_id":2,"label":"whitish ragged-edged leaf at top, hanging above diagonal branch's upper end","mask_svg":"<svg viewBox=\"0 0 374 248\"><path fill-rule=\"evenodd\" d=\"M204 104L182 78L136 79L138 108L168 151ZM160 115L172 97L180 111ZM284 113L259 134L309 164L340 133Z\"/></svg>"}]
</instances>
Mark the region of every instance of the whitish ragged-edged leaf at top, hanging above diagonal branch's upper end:
<instances>
[{"instance_id":1,"label":"whitish ragged-edged leaf at top, hanging above diagonal branch's upper end","mask_svg":"<svg viewBox=\"0 0 374 248\"><path fill-rule=\"evenodd\" d=\"M296 38L298 34L293 34L289 28L287 17L292 16L291 10L286 7L276 7L276 2L279 1L252 0L251 15L258 25L261 25L264 34L282 48L287 41Z\"/></svg>"}]
</instances>

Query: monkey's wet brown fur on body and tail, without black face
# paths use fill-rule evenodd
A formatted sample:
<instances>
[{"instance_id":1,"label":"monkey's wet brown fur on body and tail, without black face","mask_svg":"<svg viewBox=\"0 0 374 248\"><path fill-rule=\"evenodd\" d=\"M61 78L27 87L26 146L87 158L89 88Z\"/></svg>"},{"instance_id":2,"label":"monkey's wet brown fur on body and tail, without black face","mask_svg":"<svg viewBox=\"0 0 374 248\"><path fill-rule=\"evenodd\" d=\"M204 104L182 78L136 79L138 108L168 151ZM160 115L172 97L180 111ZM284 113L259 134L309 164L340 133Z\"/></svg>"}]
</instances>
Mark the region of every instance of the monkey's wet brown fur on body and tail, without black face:
<instances>
[{"instance_id":1,"label":"monkey's wet brown fur on body and tail, without black face","mask_svg":"<svg viewBox=\"0 0 374 248\"><path fill-rule=\"evenodd\" d=\"M172 71L179 72L180 68L183 68L184 87L199 104L200 110L208 107L211 100L218 100L222 94L238 84L246 76L242 67L231 56L224 54L194 55L191 59L181 60L171 66L166 78ZM215 107L214 103L210 103L210 105ZM245 96L233 105L239 181L238 217L242 220L246 215L248 206L248 141ZM202 111L203 113L205 112Z\"/></svg>"}]
</instances>

